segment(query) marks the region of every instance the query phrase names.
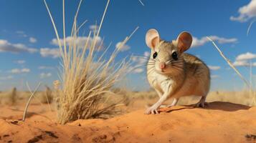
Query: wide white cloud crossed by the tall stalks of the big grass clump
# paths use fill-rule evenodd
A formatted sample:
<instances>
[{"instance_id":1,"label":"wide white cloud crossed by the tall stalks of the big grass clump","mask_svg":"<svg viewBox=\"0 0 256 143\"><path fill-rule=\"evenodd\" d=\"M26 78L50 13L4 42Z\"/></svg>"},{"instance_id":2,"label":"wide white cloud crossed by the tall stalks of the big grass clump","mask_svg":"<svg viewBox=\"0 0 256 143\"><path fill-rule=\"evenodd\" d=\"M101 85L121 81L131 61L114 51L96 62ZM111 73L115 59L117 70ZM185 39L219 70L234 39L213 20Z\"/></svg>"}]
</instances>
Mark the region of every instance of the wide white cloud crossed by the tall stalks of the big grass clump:
<instances>
[{"instance_id":1,"label":"wide white cloud crossed by the tall stalks of the big grass clump","mask_svg":"<svg viewBox=\"0 0 256 143\"><path fill-rule=\"evenodd\" d=\"M90 47L93 45L93 38L88 38L87 36L77 36L76 38L72 37L72 36L67 36L66 38L66 44L67 45L73 45L75 43L75 46L78 46L80 48L85 47L85 43L88 41L88 45L86 48ZM102 42L103 39L101 39L100 36L98 36L97 38L95 37L95 49L100 50L102 49ZM63 45L64 44L64 40L60 39L60 43ZM57 39L52 39L51 44L55 45L55 46L59 46Z\"/></svg>"}]
</instances>

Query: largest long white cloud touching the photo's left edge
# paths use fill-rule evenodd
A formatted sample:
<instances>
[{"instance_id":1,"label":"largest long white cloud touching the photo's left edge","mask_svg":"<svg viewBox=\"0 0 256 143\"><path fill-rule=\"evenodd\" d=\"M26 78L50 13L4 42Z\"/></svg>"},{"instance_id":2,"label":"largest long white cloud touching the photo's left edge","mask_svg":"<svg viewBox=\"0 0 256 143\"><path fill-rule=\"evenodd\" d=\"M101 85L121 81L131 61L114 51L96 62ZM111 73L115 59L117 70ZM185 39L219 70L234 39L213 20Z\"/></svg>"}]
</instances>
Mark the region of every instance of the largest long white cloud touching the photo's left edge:
<instances>
[{"instance_id":1,"label":"largest long white cloud touching the photo's left edge","mask_svg":"<svg viewBox=\"0 0 256 143\"><path fill-rule=\"evenodd\" d=\"M0 52L9 51L11 53L29 52L35 53L38 50L29 48L24 44L11 44L9 41L0 39Z\"/></svg>"}]
</instances>

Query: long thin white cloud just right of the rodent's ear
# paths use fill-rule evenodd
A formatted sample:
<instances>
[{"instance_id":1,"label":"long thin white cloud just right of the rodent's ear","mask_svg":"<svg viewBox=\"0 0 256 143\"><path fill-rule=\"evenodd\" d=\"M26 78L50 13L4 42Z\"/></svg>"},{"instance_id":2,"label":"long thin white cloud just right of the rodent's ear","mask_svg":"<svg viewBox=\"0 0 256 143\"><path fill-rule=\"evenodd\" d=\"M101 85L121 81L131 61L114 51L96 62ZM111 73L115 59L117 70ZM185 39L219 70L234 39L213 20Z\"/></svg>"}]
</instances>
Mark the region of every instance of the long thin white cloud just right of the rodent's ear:
<instances>
[{"instance_id":1,"label":"long thin white cloud just right of the rodent's ear","mask_svg":"<svg viewBox=\"0 0 256 143\"><path fill-rule=\"evenodd\" d=\"M234 44L237 42L236 38L227 39L219 36L208 36L208 37L213 41L217 41L219 44L226 44L226 43ZM203 36L201 39L198 39L197 37L193 37L191 47L203 46L207 42L209 42L209 40L207 39L207 36Z\"/></svg>"}]
</instances>

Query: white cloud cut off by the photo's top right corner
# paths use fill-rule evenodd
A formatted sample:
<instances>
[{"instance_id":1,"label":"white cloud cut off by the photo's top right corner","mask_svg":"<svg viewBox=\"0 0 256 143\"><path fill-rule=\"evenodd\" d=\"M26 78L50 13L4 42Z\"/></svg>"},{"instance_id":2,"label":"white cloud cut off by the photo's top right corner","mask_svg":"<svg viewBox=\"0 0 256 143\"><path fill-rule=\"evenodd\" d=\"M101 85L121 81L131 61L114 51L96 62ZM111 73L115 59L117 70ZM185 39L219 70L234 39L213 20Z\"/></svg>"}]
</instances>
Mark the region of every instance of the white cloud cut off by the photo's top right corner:
<instances>
[{"instance_id":1,"label":"white cloud cut off by the photo's top right corner","mask_svg":"<svg viewBox=\"0 0 256 143\"><path fill-rule=\"evenodd\" d=\"M256 17L256 0L252 0L249 4L240 7L238 13L239 16L230 16L230 20L245 22Z\"/></svg>"}]
</instances>

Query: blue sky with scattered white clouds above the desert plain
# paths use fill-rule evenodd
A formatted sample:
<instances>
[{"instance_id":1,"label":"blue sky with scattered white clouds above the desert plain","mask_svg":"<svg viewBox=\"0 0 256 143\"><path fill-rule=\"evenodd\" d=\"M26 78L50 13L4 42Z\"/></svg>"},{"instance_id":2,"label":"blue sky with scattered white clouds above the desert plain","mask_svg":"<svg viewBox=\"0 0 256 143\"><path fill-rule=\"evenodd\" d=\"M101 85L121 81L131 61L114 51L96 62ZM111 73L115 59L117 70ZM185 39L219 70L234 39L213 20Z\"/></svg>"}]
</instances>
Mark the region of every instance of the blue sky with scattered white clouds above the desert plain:
<instances>
[{"instance_id":1,"label":"blue sky with scattered white clouds above the desert plain","mask_svg":"<svg viewBox=\"0 0 256 143\"><path fill-rule=\"evenodd\" d=\"M249 80L248 64L256 62L256 26L248 26L256 18L256 1L180 1L180 0L111 0L103 22L100 37L104 45L115 44L139 26L138 31L125 45L118 59L145 54L150 51L145 44L148 29L157 29L162 39L176 39L181 31L194 37L193 47L187 51L199 56L212 71L212 90L240 90L245 86L214 46L206 40L211 36L241 73ZM62 1L47 1L57 29L62 31ZM66 1L66 26L70 33L78 0ZM83 1L78 23L88 20L81 29L88 33L90 26L99 23L106 1ZM52 85L57 77L57 46L52 43L54 29L42 0L0 1L0 90L17 87L27 89L26 82ZM60 34L62 36L62 34ZM83 35L81 35L83 36ZM249 53L248 53L249 52ZM135 59L139 62L139 59ZM252 74L256 74L252 67ZM255 78L254 78L254 82ZM133 90L149 88L145 67L129 74L125 85ZM254 84L255 85L255 84Z\"/></svg>"}]
</instances>

